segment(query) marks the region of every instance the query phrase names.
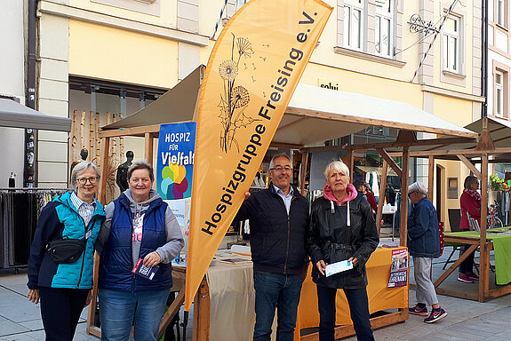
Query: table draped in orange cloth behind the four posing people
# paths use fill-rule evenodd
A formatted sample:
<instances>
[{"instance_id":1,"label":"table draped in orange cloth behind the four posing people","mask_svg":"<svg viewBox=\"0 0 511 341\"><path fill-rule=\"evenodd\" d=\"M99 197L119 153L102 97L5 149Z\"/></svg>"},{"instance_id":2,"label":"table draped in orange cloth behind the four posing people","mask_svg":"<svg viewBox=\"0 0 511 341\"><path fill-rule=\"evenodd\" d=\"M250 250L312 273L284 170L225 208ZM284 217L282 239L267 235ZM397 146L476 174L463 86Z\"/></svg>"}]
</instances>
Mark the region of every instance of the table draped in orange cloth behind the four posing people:
<instances>
[{"instance_id":1,"label":"table draped in orange cloth behind the four posing people","mask_svg":"<svg viewBox=\"0 0 511 341\"><path fill-rule=\"evenodd\" d=\"M368 261L368 297L370 299L370 310L371 313L379 312L388 308L395 308L394 312L383 314L378 317L374 317L371 319L371 326L374 329L384 327L390 324L394 324L399 321L405 321L408 319L408 285L401 288L387 288L387 280L388 275L390 274L390 266L392 263L391 260L391 250L390 249L379 249L375 251L373 256L371 256ZM220 262L219 262L220 263ZM246 266L250 266L252 269L252 263L246 264ZM235 267L233 267L234 269ZM210 267L210 269L212 269ZM214 271L219 271L220 267L215 267ZM210 270L208 270L210 271ZM174 279L176 279L176 285L178 282L181 285L184 284L186 269L183 267L174 267ZM238 274L241 272L238 268ZM310 273L310 266L309 266ZM229 323L224 321L219 321L220 318L224 318L224 316L219 316L219 309L215 308L214 305L218 305L218 282L214 280L212 282L212 278L210 278L210 282L207 280L208 274L204 276L203 282L197 292L196 298L194 300L194 317L193 317L193 339L194 340L209 340L210 334L217 335L216 338L212 337L215 341L218 339L218 332L213 332L210 329L210 321L214 320L214 328L219 328L219 325L224 323L226 324L222 328L229 329L232 328L233 323ZM217 277L218 279L218 277ZM239 279L240 282L244 282L245 295L248 295L248 299L245 302L245 305L249 305L249 310L253 309L253 287L252 287L252 276L248 273L244 273L244 278ZM211 283L212 282L212 283ZM211 288L210 285L213 287ZM239 287L238 287L239 288ZM178 289L177 287L175 289ZM174 303L169 308L167 313L164 315L164 319L162 321L162 325L160 326L161 333L166 327L168 321L172 321L172 317L175 313L179 311L180 305L182 305L184 301L184 295L182 295L182 290L180 291L180 295L174 300ZM240 294L238 292L238 294ZM349 335L354 335L355 330L353 329L353 325L349 320L347 304L343 304L340 300L342 300L344 295L339 290L339 306L341 308L338 309L338 324L341 323L336 328L336 337L347 337ZM345 299L345 298L344 298ZM250 313L250 316L246 311L247 306L240 305L231 305L228 309L225 307L220 312L222 315L233 313L236 315L244 316L242 320L244 320L245 327L241 328L243 330L246 329L246 333L244 336L238 334L238 337L233 338L236 341L243 340L252 340L252 330L253 330L253 321L255 321L255 316ZM220 309L221 310L221 309ZM228 311L227 311L228 310ZM212 320L212 311L217 312L213 316L219 316L218 318L214 318ZM249 321L246 321L249 320ZM304 286L302 289L302 297L300 299L299 305L299 319L297 321L297 337L295 340L309 341L309 340L317 340L317 333L310 333L304 335L302 337L299 336L300 329L307 329L310 327L316 327L318 325L318 313L317 313L317 298L315 296L315 284L312 282L310 275L307 276L306 281L304 282ZM237 324L237 322L236 322ZM248 326L251 326L250 328ZM240 329L240 330L241 330ZM228 340L228 338L222 337L222 340Z\"/></svg>"}]
</instances>

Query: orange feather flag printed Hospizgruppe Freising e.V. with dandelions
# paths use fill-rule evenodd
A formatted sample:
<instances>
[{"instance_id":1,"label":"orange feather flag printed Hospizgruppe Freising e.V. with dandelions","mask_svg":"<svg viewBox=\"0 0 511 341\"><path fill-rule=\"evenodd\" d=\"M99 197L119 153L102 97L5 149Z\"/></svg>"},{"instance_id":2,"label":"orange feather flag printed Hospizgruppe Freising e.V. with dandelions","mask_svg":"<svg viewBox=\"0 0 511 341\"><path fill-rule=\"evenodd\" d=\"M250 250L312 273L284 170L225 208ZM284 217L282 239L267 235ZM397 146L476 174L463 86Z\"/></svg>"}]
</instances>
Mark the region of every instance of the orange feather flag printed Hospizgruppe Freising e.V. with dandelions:
<instances>
[{"instance_id":1,"label":"orange feather flag printed Hospizgruppe Freising e.V. with dandelions","mask_svg":"<svg viewBox=\"0 0 511 341\"><path fill-rule=\"evenodd\" d=\"M320 0L252 0L213 47L197 115L187 311L331 11Z\"/></svg>"}]
</instances>

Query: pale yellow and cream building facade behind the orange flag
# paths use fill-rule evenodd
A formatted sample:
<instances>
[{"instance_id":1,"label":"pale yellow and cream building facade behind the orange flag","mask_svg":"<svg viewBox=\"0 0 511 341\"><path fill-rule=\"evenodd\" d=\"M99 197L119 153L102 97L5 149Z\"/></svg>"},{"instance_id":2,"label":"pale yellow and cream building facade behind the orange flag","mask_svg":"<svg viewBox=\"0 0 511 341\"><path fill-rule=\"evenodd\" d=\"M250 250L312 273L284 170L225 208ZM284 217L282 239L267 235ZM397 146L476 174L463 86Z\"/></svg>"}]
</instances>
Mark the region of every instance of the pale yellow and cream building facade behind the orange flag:
<instances>
[{"instance_id":1,"label":"pale yellow and cream building facade behind the orange flag","mask_svg":"<svg viewBox=\"0 0 511 341\"><path fill-rule=\"evenodd\" d=\"M39 0L37 109L92 128L94 120L102 125L131 115L207 64L221 28L245 2ZM335 10L302 83L407 102L460 126L480 117L481 2L325 2ZM394 139L396 133L374 127L339 138L358 143ZM79 157L76 150L93 139L92 133L84 135L68 143L65 133L39 134L38 186L67 186L68 166ZM75 149L68 153L73 143ZM119 145L119 163L124 151L132 150L135 159L143 155L136 140ZM426 162L415 161L412 179L427 183ZM441 218L447 207L456 207L443 190L447 178L466 173L461 163L437 163L442 182L434 201Z\"/></svg>"}]
</instances>

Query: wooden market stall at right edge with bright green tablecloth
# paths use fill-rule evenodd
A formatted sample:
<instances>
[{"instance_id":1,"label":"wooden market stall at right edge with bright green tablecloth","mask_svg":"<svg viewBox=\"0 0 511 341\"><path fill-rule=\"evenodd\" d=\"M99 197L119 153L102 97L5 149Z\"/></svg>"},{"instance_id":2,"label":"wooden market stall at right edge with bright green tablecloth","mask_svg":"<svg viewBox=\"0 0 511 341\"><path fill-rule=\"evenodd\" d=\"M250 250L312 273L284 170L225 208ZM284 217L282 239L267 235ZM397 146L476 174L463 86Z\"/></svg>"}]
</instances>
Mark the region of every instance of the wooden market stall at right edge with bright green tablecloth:
<instances>
[{"instance_id":1,"label":"wooden market stall at right edge with bright green tablecloth","mask_svg":"<svg viewBox=\"0 0 511 341\"><path fill-rule=\"evenodd\" d=\"M466 128L477 131L480 133L479 139L473 142L464 143L449 143L444 145L437 145L427 150L414 150L409 152L411 157L425 157L429 160L430 174L435 174L435 159L443 160L459 160L464 163L468 170L479 178L481 182L481 207L488 208L488 165L490 163L509 163L511 162L511 123L505 120L496 118L483 118L474 123L470 123ZM400 155L399 153L391 152L391 155ZM475 164L480 163L479 171ZM433 188L434 177L429 177L430 190ZM430 196L432 197L432 196ZM482 215L485 217L485 215ZM488 231L487 220L481 219L480 234L477 232L461 232L461 233L448 233L445 234L445 242L453 244L469 244L470 249L461 255L445 272L435 280L436 292L443 295L452 297L461 297L477 300L479 302L486 301L490 298L500 297L507 295L511 292L511 284L509 281L502 280L499 282L498 275L507 273L506 264L499 263L498 258L507 257L501 255L507 251L506 248L495 250L496 258L496 284L491 285L491 255L490 251L495 249L495 243L501 242L502 239L511 240L511 235L496 235ZM501 231L499 231L501 233ZM505 238L503 238L505 236ZM447 279L447 277L459 267L460 263L467 258L467 256L479 249L479 275L480 281L476 292L471 291L467 287L454 286L451 289L440 287L440 285Z\"/></svg>"}]
</instances>

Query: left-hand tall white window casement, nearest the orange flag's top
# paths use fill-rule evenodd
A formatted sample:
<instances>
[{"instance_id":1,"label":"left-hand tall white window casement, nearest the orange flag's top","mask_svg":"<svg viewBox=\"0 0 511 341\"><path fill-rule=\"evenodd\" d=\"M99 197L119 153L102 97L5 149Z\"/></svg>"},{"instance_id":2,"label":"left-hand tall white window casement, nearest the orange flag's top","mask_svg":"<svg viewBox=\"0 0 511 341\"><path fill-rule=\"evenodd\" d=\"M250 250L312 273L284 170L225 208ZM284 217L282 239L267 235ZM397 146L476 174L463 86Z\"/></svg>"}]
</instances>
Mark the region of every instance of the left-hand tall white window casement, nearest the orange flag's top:
<instances>
[{"instance_id":1,"label":"left-hand tall white window casement, nearest the orange flag's top","mask_svg":"<svg viewBox=\"0 0 511 341\"><path fill-rule=\"evenodd\" d=\"M363 0L344 2L344 46L362 50Z\"/></svg>"}]
</instances>

